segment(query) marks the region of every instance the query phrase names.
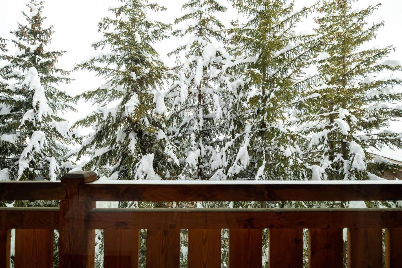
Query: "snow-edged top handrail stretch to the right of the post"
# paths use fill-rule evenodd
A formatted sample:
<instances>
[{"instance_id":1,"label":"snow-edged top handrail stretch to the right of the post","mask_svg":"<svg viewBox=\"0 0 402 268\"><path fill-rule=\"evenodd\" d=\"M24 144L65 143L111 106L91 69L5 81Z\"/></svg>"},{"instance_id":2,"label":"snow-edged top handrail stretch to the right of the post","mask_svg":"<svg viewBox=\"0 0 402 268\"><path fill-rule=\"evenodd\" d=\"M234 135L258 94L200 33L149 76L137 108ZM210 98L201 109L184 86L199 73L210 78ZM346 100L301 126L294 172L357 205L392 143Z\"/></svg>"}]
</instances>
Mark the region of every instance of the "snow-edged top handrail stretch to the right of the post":
<instances>
[{"instance_id":1,"label":"snow-edged top handrail stretch to the right of the post","mask_svg":"<svg viewBox=\"0 0 402 268\"><path fill-rule=\"evenodd\" d=\"M80 199L96 201L350 201L402 200L402 183L90 183Z\"/></svg>"}]
</instances>

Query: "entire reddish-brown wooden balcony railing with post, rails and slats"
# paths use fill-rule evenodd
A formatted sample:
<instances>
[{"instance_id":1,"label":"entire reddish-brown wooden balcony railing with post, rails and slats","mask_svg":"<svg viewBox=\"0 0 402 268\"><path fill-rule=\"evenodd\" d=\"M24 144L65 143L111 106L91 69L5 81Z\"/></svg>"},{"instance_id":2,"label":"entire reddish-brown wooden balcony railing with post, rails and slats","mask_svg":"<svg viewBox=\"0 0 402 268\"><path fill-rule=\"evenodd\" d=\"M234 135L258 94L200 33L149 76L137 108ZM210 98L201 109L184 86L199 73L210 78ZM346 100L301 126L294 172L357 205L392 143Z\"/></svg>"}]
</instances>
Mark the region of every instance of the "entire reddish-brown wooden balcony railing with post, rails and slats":
<instances>
[{"instance_id":1,"label":"entire reddish-brown wooden balcony railing with post, rails and slats","mask_svg":"<svg viewBox=\"0 0 402 268\"><path fill-rule=\"evenodd\" d=\"M351 268L402 267L402 210L328 209L101 209L94 201L351 201L402 200L398 181L95 181L75 172L61 182L1 182L0 200L61 200L59 208L0 208L0 268L53 267L53 230L59 267L94 267L94 229L104 229L105 268L138 267L139 230L147 229L146 267L178 268L180 229L189 230L189 268L221 267L221 229L229 229L229 267L262 266L263 229L269 229L269 267L303 266L308 229L309 267L343 267L343 228Z\"/></svg>"}]
</instances>

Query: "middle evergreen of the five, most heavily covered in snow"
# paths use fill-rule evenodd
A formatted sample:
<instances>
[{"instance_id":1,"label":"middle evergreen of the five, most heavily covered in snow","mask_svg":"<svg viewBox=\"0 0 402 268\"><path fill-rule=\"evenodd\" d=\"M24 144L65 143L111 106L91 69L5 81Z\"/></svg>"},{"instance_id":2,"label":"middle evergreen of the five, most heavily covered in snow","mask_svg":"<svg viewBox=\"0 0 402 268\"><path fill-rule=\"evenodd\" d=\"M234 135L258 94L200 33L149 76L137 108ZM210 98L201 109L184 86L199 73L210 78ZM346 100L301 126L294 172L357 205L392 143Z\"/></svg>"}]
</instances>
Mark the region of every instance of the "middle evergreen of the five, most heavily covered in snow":
<instances>
[{"instance_id":1,"label":"middle evergreen of the five, most heavily covered in snow","mask_svg":"<svg viewBox=\"0 0 402 268\"><path fill-rule=\"evenodd\" d=\"M185 27L173 36L187 38L169 55L176 55L169 88L170 135L183 153L178 179L226 179L221 169L222 69L230 55L218 45L224 40L224 25L217 15L226 7L215 0L189 0L183 5L186 14L174 23Z\"/></svg>"}]
</instances>

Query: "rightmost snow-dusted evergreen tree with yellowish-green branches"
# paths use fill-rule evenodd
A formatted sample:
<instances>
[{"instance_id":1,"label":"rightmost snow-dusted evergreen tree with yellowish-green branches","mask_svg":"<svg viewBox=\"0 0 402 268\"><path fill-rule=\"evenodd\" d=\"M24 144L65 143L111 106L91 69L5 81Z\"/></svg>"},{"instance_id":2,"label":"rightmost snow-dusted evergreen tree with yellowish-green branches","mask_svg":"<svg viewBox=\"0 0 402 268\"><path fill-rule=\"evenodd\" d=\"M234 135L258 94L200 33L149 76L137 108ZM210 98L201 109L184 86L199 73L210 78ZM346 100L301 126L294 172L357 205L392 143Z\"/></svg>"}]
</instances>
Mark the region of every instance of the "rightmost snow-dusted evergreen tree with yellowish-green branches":
<instances>
[{"instance_id":1,"label":"rightmost snow-dusted evergreen tree with yellowish-green branches","mask_svg":"<svg viewBox=\"0 0 402 268\"><path fill-rule=\"evenodd\" d=\"M394 89L402 79L392 74L402 67L386 59L393 46L364 46L384 26L367 23L380 4L355 9L354 2L324 1L316 19L325 40L314 60L319 78L297 104L298 122L310 139L304 159L312 179L379 179L400 168L370 150L402 148L402 135L386 129L392 117L402 116L402 107L392 105L402 100Z\"/></svg>"}]
</instances>

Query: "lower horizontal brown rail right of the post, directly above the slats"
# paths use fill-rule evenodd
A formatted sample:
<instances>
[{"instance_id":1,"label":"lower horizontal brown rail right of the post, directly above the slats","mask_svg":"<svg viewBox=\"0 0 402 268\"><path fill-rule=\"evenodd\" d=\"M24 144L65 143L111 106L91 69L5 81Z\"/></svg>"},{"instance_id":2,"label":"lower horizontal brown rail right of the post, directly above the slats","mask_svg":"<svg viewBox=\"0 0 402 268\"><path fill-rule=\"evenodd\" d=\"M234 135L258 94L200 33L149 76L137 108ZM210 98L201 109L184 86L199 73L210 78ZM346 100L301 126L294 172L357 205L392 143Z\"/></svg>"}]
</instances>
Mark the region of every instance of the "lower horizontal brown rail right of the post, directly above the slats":
<instances>
[{"instance_id":1,"label":"lower horizontal brown rail right of the post, directly above the slats","mask_svg":"<svg viewBox=\"0 0 402 268\"><path fill-rule=\"evenodd\" d=\"M402 226L402 210L97 208L89 220L92 229L385 228Z\"/></svg>"}]
</instances>

